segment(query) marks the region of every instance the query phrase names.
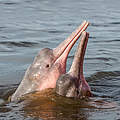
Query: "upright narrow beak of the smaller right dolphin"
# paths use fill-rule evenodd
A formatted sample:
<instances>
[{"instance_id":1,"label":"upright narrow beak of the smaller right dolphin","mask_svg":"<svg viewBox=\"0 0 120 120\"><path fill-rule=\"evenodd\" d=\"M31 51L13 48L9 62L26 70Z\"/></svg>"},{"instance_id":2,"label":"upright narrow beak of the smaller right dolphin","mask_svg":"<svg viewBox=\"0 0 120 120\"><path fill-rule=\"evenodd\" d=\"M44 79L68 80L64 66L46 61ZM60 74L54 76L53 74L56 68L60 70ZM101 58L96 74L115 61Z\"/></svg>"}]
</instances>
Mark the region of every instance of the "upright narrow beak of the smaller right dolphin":
<instances>
[{"instance_id":1,"label":"upright narrow beak of the smaller right dolphin","mask_svg":"<svg viewBox=\"0 0 120 120\"><path fill-rule=\"evenodd\" d=\"M78 79L79 77L83 77L83 61L88 43L88 37L89 37L89 33L84 31L82 33L81 41L79 42L78 48L75 52L72 66L69 71L69 73L72 76L77 77Z\"/></svg>"}]
</instances>

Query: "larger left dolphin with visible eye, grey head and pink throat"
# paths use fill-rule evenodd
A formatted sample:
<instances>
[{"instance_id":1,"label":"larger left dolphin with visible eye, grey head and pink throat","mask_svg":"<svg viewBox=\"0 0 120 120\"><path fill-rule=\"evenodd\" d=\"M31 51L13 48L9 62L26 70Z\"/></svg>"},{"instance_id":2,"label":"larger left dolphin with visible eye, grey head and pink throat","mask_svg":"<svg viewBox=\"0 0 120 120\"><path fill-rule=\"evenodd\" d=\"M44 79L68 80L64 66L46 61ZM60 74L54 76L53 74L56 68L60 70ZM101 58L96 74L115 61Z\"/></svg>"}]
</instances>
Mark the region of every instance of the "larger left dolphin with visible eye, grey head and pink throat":
<instances>
[{"instance_id":1,"label":"larger left dolphin with visible eye, grey head and pink throat","mask_svg":"<svg viewBox=\"0 0 120 120\"><path fill-rule=\"evenodd\" d=\"M88 25L89 23L84 21L58 47L42 49L25 72L23 80L11 97L11 101L30 92L55 88L59 76L66 73L67 56L71 48Z\"/></svg>"}]
</instances>

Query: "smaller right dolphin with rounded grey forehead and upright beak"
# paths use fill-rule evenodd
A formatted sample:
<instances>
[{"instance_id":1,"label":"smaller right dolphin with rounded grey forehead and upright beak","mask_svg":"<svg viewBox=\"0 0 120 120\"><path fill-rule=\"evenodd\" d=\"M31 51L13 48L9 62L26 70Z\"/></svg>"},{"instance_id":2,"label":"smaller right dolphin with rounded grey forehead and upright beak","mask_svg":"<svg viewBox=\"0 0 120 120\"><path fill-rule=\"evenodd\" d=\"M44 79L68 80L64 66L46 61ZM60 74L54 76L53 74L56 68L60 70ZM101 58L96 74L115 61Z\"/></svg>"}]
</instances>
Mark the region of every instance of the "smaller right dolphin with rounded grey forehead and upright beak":
<instances>
[{"instance_id":1,"label":"smaller right dolphin with rounded grey forehead and upright beak","mask_svg":"<svg viewBox=\"0 0 120 120\"><path fill-rule=\"evenodd\" d=\"M89 33L83 32L68 73L61 75L56 82L56 93L66 97L90 97L91 89L83 75L83 60Z\"/></svg>"}]
</instances>

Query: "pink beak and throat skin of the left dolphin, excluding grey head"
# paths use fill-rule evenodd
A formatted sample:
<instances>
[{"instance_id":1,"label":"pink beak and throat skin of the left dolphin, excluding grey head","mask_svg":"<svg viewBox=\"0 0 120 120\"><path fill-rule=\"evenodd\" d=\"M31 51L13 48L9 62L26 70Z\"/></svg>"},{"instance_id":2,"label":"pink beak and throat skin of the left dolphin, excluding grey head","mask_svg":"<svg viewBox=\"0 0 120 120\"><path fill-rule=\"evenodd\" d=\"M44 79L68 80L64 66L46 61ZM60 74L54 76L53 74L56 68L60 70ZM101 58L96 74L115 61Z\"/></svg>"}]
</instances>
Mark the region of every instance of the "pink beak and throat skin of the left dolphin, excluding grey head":
<instances>
[{"instance_id":1,"label":"pink beak and throat skin of the left dolphin, excluding grey head","mask_svg":"<svg viewBox=\"0 0 120 120\"><path fill-rule=\"evenodd\" d=\"M85 24L85 23L83 23ZM45 84L39 85L38 91L44 90L46 88L55 88L56 80L59 78L61 74L66 73L66 61L68 54L75 44L75 42L79 39L82 32L86 29L89 23L86 23L84 26L80 26L76 31L74 31L71 36L69 36L63 43L61 43L57 48L53 49L53 53L56 56L54 62L54 68L51 70L50 78L48 82ZM68 43L69 41L69 43ZM61 51L62 50L62 51ZM56 54L57 53L57 54ZM59 55L59 57L58 57ZM60 68L60 69L58 69ZM48 83L48 84L47 84Z\"/></svg>"}]
</instances>

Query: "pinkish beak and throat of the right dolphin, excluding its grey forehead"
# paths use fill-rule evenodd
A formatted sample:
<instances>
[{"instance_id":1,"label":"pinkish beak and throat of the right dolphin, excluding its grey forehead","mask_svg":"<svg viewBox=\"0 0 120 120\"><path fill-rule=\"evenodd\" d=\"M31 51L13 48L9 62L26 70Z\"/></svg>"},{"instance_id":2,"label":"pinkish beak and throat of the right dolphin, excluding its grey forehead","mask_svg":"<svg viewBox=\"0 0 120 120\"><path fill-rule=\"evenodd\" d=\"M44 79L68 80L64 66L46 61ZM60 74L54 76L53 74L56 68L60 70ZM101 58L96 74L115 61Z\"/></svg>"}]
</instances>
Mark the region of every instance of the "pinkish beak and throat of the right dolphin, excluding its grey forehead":
<instances>
[{"instance_id":1,"label":"pinkish beak and throat of the right dolphin, excluding its grey forehead","mask_svg":"<svg viewBox=\"0 0 120 120\"><path fill-rule=\"evenodd\" d=\"M76 78L78 78L77 87L79 88L80 97L92 96L90 86L85 80L83 74L83 63L84 63L84 56L87 48L88 38L89 38L89 33L83 32L83 38L81 39L78 49L76 50L72 66L69 71L69 74L71 76L74 77L76 76Z\"/></svg>"}]
</instances>

